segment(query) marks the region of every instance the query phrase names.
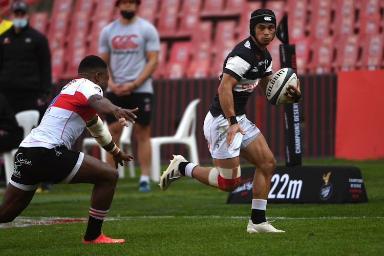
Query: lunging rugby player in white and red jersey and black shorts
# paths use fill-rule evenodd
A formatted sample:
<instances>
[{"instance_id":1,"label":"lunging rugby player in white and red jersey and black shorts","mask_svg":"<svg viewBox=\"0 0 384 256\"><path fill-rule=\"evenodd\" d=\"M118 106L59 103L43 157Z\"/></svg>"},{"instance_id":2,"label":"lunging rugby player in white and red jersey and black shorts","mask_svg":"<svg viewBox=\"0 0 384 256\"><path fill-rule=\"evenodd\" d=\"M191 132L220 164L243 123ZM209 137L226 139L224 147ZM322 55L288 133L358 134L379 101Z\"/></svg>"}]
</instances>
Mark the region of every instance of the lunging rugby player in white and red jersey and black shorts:
<instances>
[{"instance_id":1,"label":"lunging rugby player in white and red jersey and black shorts","mask_svg":"<svg viewBox=\"0 0 384 256\"><path fill-rule=\"evenodd\" d=\"M120 151L103 126L97 112L113 115L121 125L134 123L138 109L119 108L103 97L109 73L105 61L90 55L79 65L78 75L53 99L40 124L20 143L15 167L0 205L0 223L13 221L29 205L41 182L91 183L91 207L87 231L88 243L122 243L102 234L101 226L110 208L118 179L117 164L133 156ZM86 127L96 141L109 152L115 168L92 156L71 150Z\"/></svg>"}]
</instances>

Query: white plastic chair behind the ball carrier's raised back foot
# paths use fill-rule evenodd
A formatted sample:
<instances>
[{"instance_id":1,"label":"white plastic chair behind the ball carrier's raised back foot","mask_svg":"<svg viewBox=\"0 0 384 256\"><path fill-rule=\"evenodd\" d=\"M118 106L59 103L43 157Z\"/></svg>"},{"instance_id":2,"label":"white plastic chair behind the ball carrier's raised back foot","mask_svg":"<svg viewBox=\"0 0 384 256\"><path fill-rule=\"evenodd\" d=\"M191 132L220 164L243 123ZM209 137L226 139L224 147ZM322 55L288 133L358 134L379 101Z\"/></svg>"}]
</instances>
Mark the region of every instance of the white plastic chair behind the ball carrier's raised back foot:
<instances>
[{"instance_id":1,"label":"white plastic chair behind the ball carrier's raised back foot","mask_svg":"<svg viewBox=\"0 0 384 256\"><path fill-rule=\"evenodd\" d=\"M199 154L196 140L197 104L200 99L191 101L184 111L180 124L175 135L151 138L152 164L151 179L158 182L160 180L160 147L163 144L185 144L190 154L189 161L199 164Z\"/></svg>"}]
</instances>

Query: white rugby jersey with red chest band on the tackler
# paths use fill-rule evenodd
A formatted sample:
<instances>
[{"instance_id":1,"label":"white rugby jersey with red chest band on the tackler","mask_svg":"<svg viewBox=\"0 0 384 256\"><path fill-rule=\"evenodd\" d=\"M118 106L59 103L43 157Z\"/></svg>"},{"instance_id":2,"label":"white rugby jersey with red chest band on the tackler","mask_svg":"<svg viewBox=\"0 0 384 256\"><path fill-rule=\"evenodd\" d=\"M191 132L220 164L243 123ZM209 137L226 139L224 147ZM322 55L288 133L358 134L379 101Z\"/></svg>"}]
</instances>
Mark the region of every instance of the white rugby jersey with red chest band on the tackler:
<instances>
[{"instance_id":1,"label":"white rugby jersey with red chest band on the tackler","mask_svg":"<svg viewBox=\"0 0 384 256\"><path fill-rule=\"evenodd\" d=\"M86 121L96 114L96 110L88 105L88 99L95 94L103 96L103 91L88 79L76 78L69 82L20 146L53 148L64 145L71 149L86 127Z\"/></svg>"}]
</instances>

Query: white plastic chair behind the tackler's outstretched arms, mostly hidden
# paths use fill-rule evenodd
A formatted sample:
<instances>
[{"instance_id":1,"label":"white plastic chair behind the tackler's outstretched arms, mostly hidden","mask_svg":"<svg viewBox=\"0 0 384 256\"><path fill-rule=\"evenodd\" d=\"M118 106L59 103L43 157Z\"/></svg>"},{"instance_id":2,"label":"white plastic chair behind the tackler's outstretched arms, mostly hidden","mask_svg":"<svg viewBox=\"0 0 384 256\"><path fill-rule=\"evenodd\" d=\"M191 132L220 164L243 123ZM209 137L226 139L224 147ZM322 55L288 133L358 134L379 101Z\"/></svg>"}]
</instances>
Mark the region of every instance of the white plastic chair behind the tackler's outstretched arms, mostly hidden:
<instances>
[{"instance_id":1,"label":"white plastic chair behind the tackler's outstretched arms, mostly hidden","mask_svg":"<svg viewBox=\"0 0 384 256\"><path fill-rule=\"evenodd\" d=\"M104 126L108 128L108 124L104 120L103 122ZM132 154L132 142L131 142L131 135L132 135L132 130L133 130L133 124L130 123L128 127L123 127L123 131L120 136L120 148L123 150L123 148L127 148L127 154L133 155ZM94 138L84 138L82 140L82 152L87 152L87 148L90 146L99 146L100 147L100 155L101 155L101 161L106 162L106 157L105 157L105 150L97 143L97 141ZM128 162L128 166L130 169L130 177L134 178L135 177L135 163L134 161ZM117 167L117 172L119 173L119 178L124 178L125 173L124 173L124 166L121 166L120 164Z\"/></svg>"}]
</instances>

